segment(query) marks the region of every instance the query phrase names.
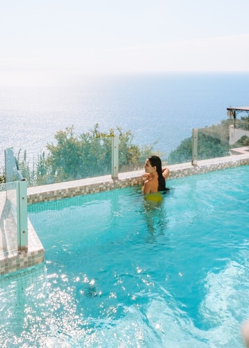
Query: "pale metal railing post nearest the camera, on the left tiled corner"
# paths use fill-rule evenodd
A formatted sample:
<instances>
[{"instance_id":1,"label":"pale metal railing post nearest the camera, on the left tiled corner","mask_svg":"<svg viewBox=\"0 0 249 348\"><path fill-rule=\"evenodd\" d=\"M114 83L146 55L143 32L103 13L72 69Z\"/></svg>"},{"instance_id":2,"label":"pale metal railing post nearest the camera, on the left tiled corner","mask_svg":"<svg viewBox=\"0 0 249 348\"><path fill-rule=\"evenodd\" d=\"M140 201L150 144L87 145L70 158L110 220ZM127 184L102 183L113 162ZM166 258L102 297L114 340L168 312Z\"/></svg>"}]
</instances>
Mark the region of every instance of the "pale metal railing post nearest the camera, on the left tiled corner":
<instances>
[{"instance_id":1,"label":"pale metal railing post nearest the camera, on the left tiled corner","mask_svg":"<svg viewBox=\"0 0 249 348\"><path fill-rule=\"evenodd\" d=\"M17 246L18 250L21 250L28 248L27 181L17 183Z\"/></svg>"}]
</instances>

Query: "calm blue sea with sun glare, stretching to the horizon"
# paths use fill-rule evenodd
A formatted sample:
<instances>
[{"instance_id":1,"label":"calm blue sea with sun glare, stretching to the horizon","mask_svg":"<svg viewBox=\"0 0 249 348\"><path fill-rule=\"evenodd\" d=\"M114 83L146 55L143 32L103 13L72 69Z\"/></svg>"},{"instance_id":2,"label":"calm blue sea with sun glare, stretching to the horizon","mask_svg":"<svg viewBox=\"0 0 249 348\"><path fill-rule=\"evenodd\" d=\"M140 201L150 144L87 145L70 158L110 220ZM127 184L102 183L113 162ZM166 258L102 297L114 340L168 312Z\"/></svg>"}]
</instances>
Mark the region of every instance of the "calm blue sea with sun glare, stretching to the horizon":
<instances>
[{"instance_id":1,"label":"calm blue sea with sun glare, stretching to the horizon","mask_svg":"<svg viewBox=\"0 0 249 348\"><path fill-rule=\"evenodd\" d=\"M57 85L0 87L0 171L4 149L27 150L30 163L58 130L131 130L133 143L168 155L202 128L249 105L249 73L157 73L68 79ZM118 133L118 132L117 132Z\"/></svg>"}]
</instances>

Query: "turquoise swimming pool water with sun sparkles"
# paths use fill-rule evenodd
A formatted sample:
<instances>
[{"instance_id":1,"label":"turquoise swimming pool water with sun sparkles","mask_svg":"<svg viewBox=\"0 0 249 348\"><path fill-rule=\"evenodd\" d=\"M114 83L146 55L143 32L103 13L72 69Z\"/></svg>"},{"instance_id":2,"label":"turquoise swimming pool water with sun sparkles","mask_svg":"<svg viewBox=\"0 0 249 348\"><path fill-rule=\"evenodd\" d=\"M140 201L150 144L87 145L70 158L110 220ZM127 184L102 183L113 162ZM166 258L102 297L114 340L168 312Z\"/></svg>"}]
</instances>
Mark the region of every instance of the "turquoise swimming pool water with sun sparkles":
<instances>
[{"instance_id":1,"label":"turquoise swimming pool water with sun sparkles","mask_svg":"<svg viewBox=\"0 0 249 348\"><path fill-rule=\"evenodd\" d=\"M168 186L31 205L46 270L1 281L3 347L243 347L249 166Z\"/></svg>"}]
</instances>

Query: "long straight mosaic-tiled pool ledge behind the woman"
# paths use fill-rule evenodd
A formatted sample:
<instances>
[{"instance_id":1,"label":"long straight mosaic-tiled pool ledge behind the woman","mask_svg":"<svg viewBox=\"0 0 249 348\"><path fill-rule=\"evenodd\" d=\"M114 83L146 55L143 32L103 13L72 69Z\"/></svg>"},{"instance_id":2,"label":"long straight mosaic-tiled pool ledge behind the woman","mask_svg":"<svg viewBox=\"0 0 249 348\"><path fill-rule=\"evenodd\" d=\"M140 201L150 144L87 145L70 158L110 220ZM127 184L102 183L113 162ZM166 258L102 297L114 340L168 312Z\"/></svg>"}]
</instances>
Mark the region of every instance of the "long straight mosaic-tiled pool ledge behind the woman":
<instances>
[{"instance_id":1,"label":"long straight mosaic-tiled pool ledge behind the woman","mask_svg":"<svg viewBox=\"0 0 249 348\"><path fill-rule=\"evenodd\" d=\"M213 170L220 170L249 164L249 153L236 156L215 158L211 160L198 161L196 166L191 163L182 163L168 166L170 170L169 179L178 179L192 175L204 174ZM28 188L28 204L60 200L77 195L110 191L116 188L142 185L141 177L144 170L119 173L118 179L111 176L88 178L36 186Z\"/></svg>"}]
</instances>

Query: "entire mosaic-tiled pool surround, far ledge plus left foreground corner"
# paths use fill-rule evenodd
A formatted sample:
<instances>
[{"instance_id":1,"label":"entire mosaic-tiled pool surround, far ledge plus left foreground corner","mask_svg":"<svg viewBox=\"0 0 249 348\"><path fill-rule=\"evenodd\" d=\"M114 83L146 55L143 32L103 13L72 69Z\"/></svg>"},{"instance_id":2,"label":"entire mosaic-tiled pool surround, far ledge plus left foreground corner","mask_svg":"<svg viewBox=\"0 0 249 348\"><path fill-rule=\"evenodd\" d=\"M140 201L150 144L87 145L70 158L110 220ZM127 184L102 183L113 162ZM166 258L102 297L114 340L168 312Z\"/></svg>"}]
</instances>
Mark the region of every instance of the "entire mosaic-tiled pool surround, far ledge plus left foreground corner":
<instances>
[{"instance_id":1,"label":"entire mosaic-tiled pool surround, far ledge plus left foreground corner","mask_svg":"<svg viewBox=\"0 0 249 348\"><path fill-rule=\"evenodd\" d=\"M183 178L244 164L249 164L248 151L237 156L198 161L196 166L192 166L191 163L168 166L170 169L169 179ZM120 173L118 179L111 179L111 176L108 175L30 187L28 188L28 204L141 185L143 172L144 170L137 170ZM44 249L31 222L28 221L29 248L16 250L15 222L6 202L5 192L0 193L0 276L8 276L42 265L44 263Z\"/></svg>"}]
</instances>

